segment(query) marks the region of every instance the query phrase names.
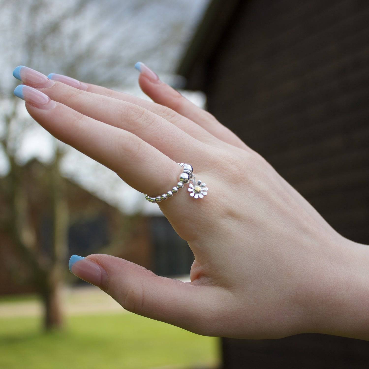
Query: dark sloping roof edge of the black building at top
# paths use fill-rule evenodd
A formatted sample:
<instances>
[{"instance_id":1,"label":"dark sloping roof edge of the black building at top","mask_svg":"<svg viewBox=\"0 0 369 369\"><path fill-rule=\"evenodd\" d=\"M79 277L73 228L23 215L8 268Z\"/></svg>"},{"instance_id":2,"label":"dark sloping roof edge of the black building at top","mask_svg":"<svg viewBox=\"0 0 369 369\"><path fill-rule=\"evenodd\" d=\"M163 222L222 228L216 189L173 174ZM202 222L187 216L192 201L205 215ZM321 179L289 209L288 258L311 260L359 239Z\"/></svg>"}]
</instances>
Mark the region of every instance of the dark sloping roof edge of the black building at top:
<instances>
[{"instance_id":1,"label":"dark sloping roof edge of the black building at top","mask_svg":"<svg viewBox=\"0 0 369 369\"><path fill-rule=\"evenodd\" d=\"M210 1L199 27L184 52L177 74L188 77L195 64L206 62L240 3L241 0Z\"/></svg>"}]
</instances>

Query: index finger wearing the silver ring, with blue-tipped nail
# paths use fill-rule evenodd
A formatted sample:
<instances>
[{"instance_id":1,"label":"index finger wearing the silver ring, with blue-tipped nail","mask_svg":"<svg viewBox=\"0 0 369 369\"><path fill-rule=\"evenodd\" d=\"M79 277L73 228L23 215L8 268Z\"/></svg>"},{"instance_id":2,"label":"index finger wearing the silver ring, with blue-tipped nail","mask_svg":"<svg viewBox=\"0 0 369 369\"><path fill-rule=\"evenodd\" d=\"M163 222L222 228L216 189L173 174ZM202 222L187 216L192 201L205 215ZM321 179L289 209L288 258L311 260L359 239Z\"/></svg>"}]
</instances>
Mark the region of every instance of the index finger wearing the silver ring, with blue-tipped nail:
<instances>
[{"instance_id":1,"label":"index finger wearing the silver ring, with blue-tipped nail","mask_svg":"<svg viewBox=\"0 0 369 369\"><path fill-rule=\"evenodd\" d=\"M17 86L14 94L26 101L31 117L54 137L107 166L138 191L166 192L163 186L181 171L176 162L131 132L87 117L29 86Z\"/></svg>"}]
</instances>

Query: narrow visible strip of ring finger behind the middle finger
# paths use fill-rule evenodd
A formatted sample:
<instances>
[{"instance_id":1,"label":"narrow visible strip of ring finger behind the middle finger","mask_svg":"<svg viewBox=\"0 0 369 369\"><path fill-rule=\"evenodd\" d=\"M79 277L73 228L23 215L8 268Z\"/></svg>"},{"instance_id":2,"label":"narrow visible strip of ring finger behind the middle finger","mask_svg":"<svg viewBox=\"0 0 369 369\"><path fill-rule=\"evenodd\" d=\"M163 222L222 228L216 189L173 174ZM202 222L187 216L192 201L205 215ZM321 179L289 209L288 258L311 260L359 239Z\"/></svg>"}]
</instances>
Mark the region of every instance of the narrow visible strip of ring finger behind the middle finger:
<instances>
[{"instance_id":1,"label":"narrow visible strip of ring finger behind the middle finger","mask_svg":"<svg viewBox=\"0 0 369 369\"><path fill-rule=\"evenodd\" d=\"M29 69L29 68L28 68ZM75 87L77 89L92 92L94 94L103 95L107 97L112 97L117 100L127 101L127 103L132 103L141 106L152 113L159 115L159 117L164 118L170 123L176 125L182 131L188 133L192 137L198 139L209 145L219 146L220 142L215 138L210 132L206 131L204 128L200 127L198 124L194 123L192 120L180 115L173 109L163 106L161 104L154 103L152 101L147 101L140 99L139 97L132 96L123 92L114 91L107 89L106 87L101 87L97 85L92 85L90 83L83 83L74 78L63 76L56 73L50 73L48 75L49 79L65 83L66 85ZM24 82L24 81L23 81ZM25 83L27 85L27 83Z\"/></svg>"}]
</instances>

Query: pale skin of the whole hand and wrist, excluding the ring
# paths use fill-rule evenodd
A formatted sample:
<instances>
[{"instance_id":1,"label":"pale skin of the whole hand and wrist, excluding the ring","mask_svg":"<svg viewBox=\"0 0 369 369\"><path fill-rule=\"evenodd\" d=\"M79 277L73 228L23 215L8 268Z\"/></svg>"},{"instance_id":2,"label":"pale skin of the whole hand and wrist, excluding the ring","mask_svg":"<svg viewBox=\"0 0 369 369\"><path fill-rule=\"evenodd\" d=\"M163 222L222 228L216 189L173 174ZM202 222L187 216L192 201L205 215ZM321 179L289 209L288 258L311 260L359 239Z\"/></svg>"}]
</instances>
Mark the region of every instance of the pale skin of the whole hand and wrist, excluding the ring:
<instances>
[{"instance_id":1,"label":"pale skin of the whole hand and wrist, excluding the ring","mask_svg":"<svg viewBox=\"0 0 369 369\"><path fill-rule=\"evenodd\" d=\"M265 159L145 68L139 84L154 102L24 77L51 99L42 107L25 99L26 107L56 138L150 196L176 184L177 163L193 166L207 196L181 190L159 203L193 251L191 282L105 254L86 257L102 268L98 281L73 273L129 311L198 334L369 340L369 248L339 235Z\"/></svg>"}]
</instances>

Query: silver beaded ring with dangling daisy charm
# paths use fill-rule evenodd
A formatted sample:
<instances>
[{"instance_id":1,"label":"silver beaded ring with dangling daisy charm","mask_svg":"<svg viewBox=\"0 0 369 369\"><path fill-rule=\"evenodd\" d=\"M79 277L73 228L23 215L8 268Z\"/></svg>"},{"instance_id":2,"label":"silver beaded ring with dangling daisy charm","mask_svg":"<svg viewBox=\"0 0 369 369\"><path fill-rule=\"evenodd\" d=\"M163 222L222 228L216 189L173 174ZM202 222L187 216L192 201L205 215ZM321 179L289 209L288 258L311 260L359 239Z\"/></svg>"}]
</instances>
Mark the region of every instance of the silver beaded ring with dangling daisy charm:
<instances>
[{"instance_id":1,"label":"silver beaded ring with dangling daisy charm","mask_svg":"<svg viewBox=\"0 0 369 369\"><path fill-rule=\"evenodd\" d=\"M174 186L167 193L163 193L162 195L156 197L145 194L145 199L147 201L150 201L153 204L164 201L169 197L172 197L173 194L177 193L187 183L189 183L189 188L187 190L190 192L190 196L194 197L194 199L202 199L207 195L208 188L206 187L205 183L201 182L200 180L196 180L196 177L193 175L192 165L185 163L177 164L183 168L183 172L179 175L179 182L176 184L176 186Z\"/></svg>"}]
</instances>

